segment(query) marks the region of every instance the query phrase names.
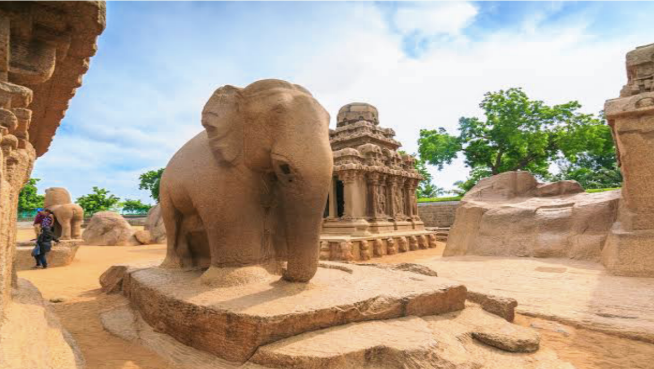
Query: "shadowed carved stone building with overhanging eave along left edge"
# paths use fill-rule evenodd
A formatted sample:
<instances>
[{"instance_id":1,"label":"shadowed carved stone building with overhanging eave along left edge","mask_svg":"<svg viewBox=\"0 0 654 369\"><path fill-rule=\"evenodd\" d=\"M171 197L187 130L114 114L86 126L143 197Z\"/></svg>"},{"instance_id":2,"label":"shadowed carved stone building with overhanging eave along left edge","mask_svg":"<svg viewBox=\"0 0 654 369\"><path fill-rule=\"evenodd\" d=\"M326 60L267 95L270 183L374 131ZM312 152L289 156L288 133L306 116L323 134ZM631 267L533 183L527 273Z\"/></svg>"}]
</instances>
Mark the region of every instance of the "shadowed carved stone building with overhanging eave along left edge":
<instances>
[{"instance_id":1,"label":"shadowed carved stone building with overhanging eave along left edge","mask_svg":"<svg viewBox=\"0 0 654 369\"><path fill-rule=\"evenodd\" d=\"M16 211L20 189L35 158L48 150L104 27L103 1L0 3L2 368L46 368L52 362L78 367L77 351L46 310L39 291L16 277ZM43 342L48 349L39 346Z\"/></svg>"}]
</instances>

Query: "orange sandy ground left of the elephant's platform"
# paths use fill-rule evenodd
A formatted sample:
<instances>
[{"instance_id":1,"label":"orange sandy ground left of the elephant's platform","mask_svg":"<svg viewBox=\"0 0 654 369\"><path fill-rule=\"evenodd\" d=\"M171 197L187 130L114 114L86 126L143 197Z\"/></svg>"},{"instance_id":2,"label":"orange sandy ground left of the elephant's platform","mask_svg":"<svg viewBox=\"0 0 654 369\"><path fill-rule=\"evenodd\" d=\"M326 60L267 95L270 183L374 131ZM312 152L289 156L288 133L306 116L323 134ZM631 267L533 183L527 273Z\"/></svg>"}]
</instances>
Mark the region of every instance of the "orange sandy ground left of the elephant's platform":
<instances>
[{"instance_id":1,"label":"orange sandy ground left of the elephant's platform","mask_svg":"<svg viewBox=\"0 0 654 369\"><path fill-rule=\"evenodd\" d=\"M113 264L162 259L163 255L165 245L82 246L69 266L26 270L18 276L32 281L46 300L65 299L52 307L80 345L88 369L168 369L171 367L148 349L109 334L99 320L102 311L125 301L121 296L101 293L99 275Z\"/></svg>"}]
</instances>

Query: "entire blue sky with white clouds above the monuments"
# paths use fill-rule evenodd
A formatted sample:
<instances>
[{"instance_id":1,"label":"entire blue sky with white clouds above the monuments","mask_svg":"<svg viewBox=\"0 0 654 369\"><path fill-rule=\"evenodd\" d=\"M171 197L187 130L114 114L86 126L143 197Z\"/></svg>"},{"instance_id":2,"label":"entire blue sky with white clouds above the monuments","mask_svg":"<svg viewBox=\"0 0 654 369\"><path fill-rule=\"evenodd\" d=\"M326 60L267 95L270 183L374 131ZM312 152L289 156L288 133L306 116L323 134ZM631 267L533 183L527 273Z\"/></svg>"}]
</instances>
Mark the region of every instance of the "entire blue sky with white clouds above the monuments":
<instances>
[{"instance_id":1,"label":"entire blue sky with white clouds above the monuments","mask_svg":"<svg viewBox=\"0 0 654 369\"><path fill-rule=\"evenodd\" d=\"M368 102L407 152L421 128L456 132L488 91L521 86L596 113L626 80L625 53L654 43L642 1L109 1L82 87L37 160L39 190L92 186L151 202L141 173L201 130L224 85L264 78L308 88L334 117ZM451 188L457 160L435 182Z\"/></svg>"}]
</instances>

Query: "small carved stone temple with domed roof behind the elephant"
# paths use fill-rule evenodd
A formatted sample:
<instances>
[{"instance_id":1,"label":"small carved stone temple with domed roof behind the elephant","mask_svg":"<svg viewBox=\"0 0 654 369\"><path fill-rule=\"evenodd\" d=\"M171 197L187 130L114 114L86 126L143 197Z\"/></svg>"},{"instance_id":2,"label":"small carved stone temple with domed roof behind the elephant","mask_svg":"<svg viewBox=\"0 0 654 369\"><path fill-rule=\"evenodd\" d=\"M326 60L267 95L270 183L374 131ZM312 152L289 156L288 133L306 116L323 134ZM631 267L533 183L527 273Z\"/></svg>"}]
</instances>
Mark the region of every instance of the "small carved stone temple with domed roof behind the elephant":
<instances>
[{"instance_id":1,"label":"small carved stone temple with domed roof behind the elephant","mask_svg":"<svg viewBox=\"0 0 654 369\"><path fill-rule=\"evenodd\" d=\"M334 176L320 237L322 260L369 260L436 247L418 216L415 158L401 154L395 132L379 126L372 105L351 103L330 130Z\"/></svg>"}]
</instances>

